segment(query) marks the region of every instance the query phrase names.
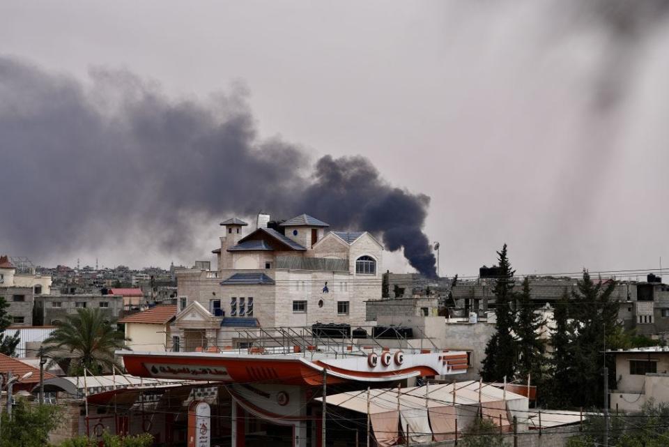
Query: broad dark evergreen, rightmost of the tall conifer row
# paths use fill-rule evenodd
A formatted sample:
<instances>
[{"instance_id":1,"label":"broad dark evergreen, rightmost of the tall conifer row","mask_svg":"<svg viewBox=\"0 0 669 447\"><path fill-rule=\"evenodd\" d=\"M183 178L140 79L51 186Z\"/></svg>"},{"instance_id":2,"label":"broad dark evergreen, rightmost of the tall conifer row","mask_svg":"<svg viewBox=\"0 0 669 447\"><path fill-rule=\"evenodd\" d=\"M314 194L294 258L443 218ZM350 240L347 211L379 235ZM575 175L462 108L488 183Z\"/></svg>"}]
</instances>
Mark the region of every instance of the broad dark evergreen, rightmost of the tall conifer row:
<instances>
[{"instance_id":1,"label":"broad dark evergreen, rightmost of the tall conifer row","mask_svg":"<svg viewBox=\"0 0 669 447\"><path fill-rule=\"evenodd\" d=\"M583 271L583 279L571 291L571 389L574 406L599 407L603 402L602 368L606 334L616 330L618 303L611 299L615 281L594 282Z\"/></svg>"}]
</instances>

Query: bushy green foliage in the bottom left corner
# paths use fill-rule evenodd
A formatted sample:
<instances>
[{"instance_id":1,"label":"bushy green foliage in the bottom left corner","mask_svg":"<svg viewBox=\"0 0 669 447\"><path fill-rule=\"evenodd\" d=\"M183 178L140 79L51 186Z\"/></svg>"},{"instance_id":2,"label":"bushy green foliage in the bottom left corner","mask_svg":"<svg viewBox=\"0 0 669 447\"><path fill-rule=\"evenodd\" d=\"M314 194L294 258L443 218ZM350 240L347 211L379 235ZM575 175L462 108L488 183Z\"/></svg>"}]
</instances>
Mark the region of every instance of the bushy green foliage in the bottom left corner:
<instances>
[{"instance_id":1,"label":"bushy green foliage in the bottom left corner","mask_svg":"<svg viewBox=\"0 0 669 447\"><path fill-rule=\"evenodd\" d=\"M12 420L3 411L0 427L0 447L43 447L49 432L60 423L60 407L33 405L18 398L12 410Z\"/></svg>"}]
</instances>

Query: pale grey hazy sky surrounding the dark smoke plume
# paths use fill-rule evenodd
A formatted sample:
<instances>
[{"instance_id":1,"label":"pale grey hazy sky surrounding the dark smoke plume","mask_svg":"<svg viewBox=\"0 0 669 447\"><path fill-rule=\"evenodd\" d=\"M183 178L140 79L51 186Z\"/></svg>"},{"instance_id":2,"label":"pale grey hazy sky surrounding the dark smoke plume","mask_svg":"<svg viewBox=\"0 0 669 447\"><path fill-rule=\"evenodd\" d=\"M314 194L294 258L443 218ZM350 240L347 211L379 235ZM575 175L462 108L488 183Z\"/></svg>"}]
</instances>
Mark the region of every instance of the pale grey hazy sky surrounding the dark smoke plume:
<instances>
[{"instance_id":1,"label":"pale grey hazy sky surrounding the dark smoke plume","mask_svg":"<svg viewBox=\"0 0 669 447\"><path fill-rule=\"evenodd\" d=\"M669 256L664 3L6 0L0 55L85 82L125 69L174 98L242 86L261 137L361 154L431 197L443 274L476 273L504 242L519 273L649 268ZM5 243L43 264L190 264L215 247L217 220L203 226L189 256L146 235Z\"/></svg>"}]
</instances>

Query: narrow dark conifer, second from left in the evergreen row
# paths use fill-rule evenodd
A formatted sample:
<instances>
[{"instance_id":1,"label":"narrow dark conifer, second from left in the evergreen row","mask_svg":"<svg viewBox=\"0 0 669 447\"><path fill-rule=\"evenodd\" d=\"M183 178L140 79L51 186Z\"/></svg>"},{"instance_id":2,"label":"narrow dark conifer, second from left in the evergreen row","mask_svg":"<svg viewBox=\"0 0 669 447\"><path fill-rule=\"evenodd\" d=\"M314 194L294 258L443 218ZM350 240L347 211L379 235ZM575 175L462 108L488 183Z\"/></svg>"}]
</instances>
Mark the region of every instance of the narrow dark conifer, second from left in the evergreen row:
<instances>
[{"instance_id":1,"label":"narrow dark conifer, second from left in the evergreen row","mask_svg":"<svg viewBox=\"0 0 669 447\"><path fill-rule=\"evenodd\" d=\"M546 320L537 312L535 303L532 302L530 278L527 276L523 280L523 291L518 294L516 303L518 308L514 330L518 346L516 379L526 380L529 375L535 384L542 384L546 343L541 338L540 331L546 325Z\"/></svg>"}]
</instances>

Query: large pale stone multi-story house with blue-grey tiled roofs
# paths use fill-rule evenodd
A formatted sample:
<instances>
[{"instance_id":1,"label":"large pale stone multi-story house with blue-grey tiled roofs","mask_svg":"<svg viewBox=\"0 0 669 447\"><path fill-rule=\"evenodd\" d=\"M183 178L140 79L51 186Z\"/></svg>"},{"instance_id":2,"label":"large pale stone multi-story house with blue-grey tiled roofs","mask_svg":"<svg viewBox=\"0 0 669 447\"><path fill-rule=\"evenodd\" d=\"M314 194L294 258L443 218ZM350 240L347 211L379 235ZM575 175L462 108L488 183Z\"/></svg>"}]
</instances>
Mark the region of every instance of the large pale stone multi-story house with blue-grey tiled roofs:
<instances>
[{"instance_id":1,"label":"large pale stone multi-story house with blue-grey tiled roofs","mask_svg":"<svg viewBox=\"0 0 669 447\"><path fill-rule=\"evenodd\" d=\"M176 273L174 333L190 339L184 347L226 340L220 328L355 327L364 324L365 301L381 298L383 245L367 232L328 232L306 214L282 223L259 215L252 232L237 218L221 225L217 270Z\"/></svg>"}]
</instances>

